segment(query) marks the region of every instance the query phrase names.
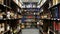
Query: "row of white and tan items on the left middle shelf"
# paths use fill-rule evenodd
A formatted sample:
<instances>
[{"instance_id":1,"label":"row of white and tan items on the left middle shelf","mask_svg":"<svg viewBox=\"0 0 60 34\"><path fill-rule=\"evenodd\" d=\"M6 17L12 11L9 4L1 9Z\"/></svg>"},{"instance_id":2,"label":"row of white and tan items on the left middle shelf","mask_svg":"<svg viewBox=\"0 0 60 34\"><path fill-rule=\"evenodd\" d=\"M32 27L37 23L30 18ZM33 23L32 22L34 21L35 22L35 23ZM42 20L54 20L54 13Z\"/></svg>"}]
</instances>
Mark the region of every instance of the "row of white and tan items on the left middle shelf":
<instances>
[{"instance_id":1,"label":"row of white and tan items on the left middle shelf","mask_svg":"<svg viewBox=\"0 0 60 34\"><path fill-rule=\"evenodd\" d=\"M14 14L13 12L0 12L0 19L10 19L10 18L14 18L16 19L17 18L17 14Z\"/></svg>"}]
</instances>

